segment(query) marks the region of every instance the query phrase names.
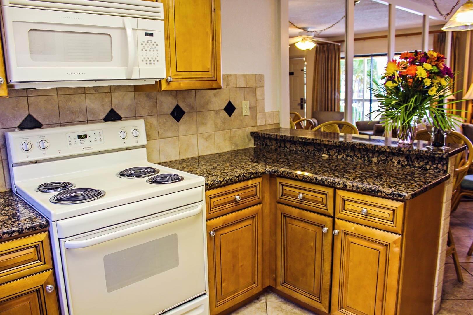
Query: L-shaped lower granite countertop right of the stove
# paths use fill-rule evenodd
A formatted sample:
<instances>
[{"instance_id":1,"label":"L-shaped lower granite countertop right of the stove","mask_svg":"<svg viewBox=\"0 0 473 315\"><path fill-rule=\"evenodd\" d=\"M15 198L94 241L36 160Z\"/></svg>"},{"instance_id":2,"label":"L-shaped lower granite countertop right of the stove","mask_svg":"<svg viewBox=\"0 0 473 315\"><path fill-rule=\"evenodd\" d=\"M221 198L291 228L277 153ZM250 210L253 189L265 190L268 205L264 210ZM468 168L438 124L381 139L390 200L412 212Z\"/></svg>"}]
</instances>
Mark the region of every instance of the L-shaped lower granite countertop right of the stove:
<instances>
[{"instance_id":1,"label":"L-shaped lower granite countertop right of the stove","mask_svg":"<svg viewBox=\"0 0 473 315\"><path fill-rule=\"evenodd\" d=\"M203 176L213 188L263 174L409 200L439 185L449 174L366 164L336 158L248 148L161 163Z\"/></svg>"}]
</instances>

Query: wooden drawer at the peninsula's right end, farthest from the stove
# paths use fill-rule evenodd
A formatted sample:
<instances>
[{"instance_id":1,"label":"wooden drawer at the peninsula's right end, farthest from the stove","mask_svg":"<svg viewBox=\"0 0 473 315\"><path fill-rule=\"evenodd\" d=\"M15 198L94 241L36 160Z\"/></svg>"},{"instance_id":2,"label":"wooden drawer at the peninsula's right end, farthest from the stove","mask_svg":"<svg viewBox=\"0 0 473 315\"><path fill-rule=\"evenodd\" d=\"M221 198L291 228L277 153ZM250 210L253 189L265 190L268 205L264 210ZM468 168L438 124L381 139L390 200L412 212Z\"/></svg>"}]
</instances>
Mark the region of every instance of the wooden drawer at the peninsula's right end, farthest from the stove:
<instances>
[{"instance_id":1,"label":"wooden drawer at the peninsula's right end, farthest from the stove","mask_svg":"<svg viewBox=\"0 0 473 315\"><path fill-rule=\"evenodd\" d=\"M404 203L337 190L335 218L401 234Z\"/></svg>"}]
</instances>

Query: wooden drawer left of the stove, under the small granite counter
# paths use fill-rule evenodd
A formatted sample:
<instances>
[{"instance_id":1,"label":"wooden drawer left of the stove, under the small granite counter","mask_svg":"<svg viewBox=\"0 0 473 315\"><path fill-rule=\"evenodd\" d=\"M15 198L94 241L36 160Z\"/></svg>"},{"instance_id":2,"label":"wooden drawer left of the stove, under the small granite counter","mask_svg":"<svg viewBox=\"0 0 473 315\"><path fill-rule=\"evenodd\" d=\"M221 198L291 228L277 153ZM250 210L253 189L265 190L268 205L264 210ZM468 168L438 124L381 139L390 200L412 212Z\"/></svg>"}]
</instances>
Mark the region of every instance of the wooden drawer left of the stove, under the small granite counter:
<instances>
[{"instance_id":1,"label":"wooden drawer left of the stove, under the small granite counter","mask_svg":"<svg viewBox=\"0 0 473 315\"><path fill-rule=\"evenodd\" d=\"M48 232L0 243L0 283L53 268Z\"/></svg>"}]
</instances>

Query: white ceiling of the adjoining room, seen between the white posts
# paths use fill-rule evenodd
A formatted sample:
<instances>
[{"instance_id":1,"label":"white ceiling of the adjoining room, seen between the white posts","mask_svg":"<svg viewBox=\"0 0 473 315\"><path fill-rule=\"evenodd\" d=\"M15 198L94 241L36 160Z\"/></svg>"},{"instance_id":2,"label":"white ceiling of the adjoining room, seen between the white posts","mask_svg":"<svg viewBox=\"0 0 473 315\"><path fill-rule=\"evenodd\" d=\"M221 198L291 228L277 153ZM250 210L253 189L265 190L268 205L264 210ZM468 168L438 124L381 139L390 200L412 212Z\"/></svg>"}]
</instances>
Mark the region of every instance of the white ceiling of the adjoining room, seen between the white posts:
<instances>
[{"instance_id":1,"label":"white ceiling of the adjoining room, seen between the white posts","mask_svg":"<svg viewBox=\"0 0 473 315\"><path fill-rule=\"evenodd\" d=\"M432 0L412 0L434 9ZM436 0L440 11L450 11L456 0ZM463 4L463 0L460 3ZM459 5L459 6L460 6ZM456 9L459 8L459 6ZM345 0L289 0L289 21L309 30L322 30L345 15ZM430 19L430 25L445 24L445 21ZM371 0L361 0L355 6L355 34L386 31L388 6ZM422 26L422 17L396 9L396 29ZM289 27L289 37L298 36L300 30ZM335 37L345 33L345 20L322 32L318 37Z\"/></svg>"}]
</instances>

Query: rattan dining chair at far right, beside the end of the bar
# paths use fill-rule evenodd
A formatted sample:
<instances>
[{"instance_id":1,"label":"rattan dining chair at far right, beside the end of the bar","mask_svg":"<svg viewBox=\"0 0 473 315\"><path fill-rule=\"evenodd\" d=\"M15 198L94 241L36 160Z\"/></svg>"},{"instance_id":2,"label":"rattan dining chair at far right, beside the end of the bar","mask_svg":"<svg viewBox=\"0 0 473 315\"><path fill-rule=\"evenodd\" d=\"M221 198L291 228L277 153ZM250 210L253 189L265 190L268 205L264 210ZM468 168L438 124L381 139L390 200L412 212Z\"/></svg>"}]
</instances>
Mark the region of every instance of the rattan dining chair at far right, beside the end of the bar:
<instances>
[{"instance_id":1,"label":"rattan dining chair at far right, beside the end of the bar","mask_svg":"<svg viewBox=\"0 0 473 315\"><path fill-rule=\"evenodd\" d=\"M419 130L416 135L417 140L430 140L430 135L426 129ZM460 203L460 199L463 196L473 196L473 178L468 179L466 175L468 169L473 160L473 144L472 142L464 135L459 132L452 131L447 136L447 144L460 144L466 145L468 148L462 153L459 153L455 157L455 170L452 176L452 200L450 206L450 213L454 212ZM473 251L473 244L468 251L468 255L471 255ZM458 260L458 253L455 247L455 241L453 238L452 231L450 227L448 228L448 237L447 237L447 257L452 256L453 262L455 264L456 278L458 282L463 283L462 269L460 267L460 262Z\"/></svg>"}]
</instances>

